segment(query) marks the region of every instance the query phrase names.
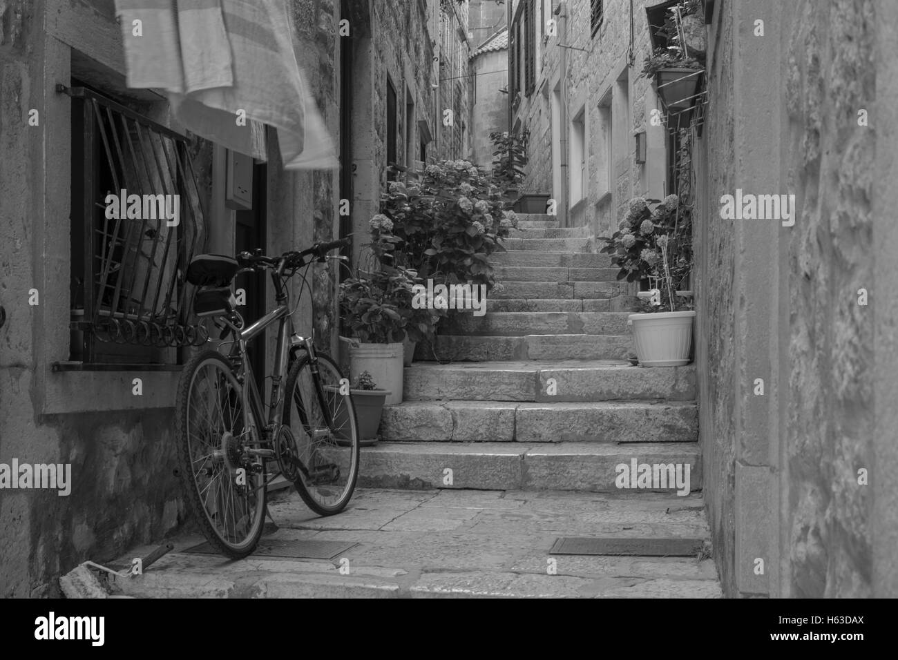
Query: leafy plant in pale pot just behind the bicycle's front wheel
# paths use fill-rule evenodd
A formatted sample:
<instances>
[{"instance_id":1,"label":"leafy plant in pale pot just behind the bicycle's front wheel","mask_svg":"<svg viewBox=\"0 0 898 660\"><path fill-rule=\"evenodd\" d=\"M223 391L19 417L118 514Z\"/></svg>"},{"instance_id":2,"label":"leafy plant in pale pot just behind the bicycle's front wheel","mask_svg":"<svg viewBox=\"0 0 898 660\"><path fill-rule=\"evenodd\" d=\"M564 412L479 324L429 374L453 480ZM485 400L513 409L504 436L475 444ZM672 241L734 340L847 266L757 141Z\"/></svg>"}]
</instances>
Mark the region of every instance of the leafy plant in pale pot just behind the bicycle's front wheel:
<instances>
[{"instance_id":1,"label":"leafy plant in pale pot just behind the bicycle's front wheel","mask_svg":"<svg viewBox=\"0 0 898 660\"><path fill-rule=\"evenodd\" d=\"M358 270L340 283L340 318L349 344L349 377L374 374L389 390L386 405L402 402L403 345L409 313L403 305L415 284L414 271L381 265Z\"/></svg>"}]
</instances>

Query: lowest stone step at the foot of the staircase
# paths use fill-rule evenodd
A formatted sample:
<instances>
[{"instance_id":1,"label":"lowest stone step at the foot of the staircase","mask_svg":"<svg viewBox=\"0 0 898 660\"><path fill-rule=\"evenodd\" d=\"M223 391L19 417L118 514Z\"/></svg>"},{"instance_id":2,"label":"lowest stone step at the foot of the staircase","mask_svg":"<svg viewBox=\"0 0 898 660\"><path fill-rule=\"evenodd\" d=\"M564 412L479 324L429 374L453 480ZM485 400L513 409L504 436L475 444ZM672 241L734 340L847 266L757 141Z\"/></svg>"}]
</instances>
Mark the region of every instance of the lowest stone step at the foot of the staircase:
<instances>
[{"instance_id":1,"label":"lowest stone step at the foot of the staircase","mask_svg":"<svg viewBox=\"0 0 898 660\"><path fill-rule=\"evenodd\" d=\"M480 490L578 490L594 493L673 492L676 488L618 488L615 480L637 465L689 468L689 490L701 489L696 443L379 443L363 447L362 488L477 488ZM654 469L654 468L653 468ZM666 471L659 468L658 475ZM638 482L637 482L638 483ZM660 480L656 482L661 485ZM687 491L688 492L688 491Z\"/></svg>"}]
</instances>

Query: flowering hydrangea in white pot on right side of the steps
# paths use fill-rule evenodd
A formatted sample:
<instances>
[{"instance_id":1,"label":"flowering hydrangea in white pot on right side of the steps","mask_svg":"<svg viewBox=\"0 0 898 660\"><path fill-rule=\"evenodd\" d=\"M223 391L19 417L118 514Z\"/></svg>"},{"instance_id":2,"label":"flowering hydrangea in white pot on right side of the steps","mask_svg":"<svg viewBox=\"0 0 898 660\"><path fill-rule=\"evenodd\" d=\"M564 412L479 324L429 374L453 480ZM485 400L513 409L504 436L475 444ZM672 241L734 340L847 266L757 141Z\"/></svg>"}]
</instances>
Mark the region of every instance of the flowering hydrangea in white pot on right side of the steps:
<instances>
[{"instance_id":1,"label":"flowering hydrangea in white pot on right side of the steps","mask_svg":"<svg viewBox=\"0 0 898 660\"><path fill-rule=\"evenodd\" d=\"M678 294L686 293L679 289L691 272L691 235L691 209L668 195L631 199L618 231L600 239L602 252L621 268L618 279L647 280L652 287L638 294L642 312L628 317L642 366L689 364L695 311L691 296Z\"/></svg>"}]
</instances>

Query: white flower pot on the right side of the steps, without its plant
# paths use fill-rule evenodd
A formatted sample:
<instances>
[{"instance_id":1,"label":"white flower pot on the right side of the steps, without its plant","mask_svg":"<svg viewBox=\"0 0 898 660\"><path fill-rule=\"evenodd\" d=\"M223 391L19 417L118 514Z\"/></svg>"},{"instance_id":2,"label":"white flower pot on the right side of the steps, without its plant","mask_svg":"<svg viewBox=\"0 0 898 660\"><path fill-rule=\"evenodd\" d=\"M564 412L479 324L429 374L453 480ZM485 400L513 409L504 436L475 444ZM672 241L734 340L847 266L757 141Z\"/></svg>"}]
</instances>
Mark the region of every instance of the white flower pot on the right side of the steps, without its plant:
<instances>
[{"instance_id":1,"label":"white flower pot on the right side of the steps, without its plant","mask_svg":"<svg viewBox=\"0 0 898 660\"><path fill-rule=\"evenodd\" d=\"M689 364L692 347L692 319L695 311L630 314L627 324L633 331L636 355L642 366L682 366Z\"/></svg>"}]
</instances>

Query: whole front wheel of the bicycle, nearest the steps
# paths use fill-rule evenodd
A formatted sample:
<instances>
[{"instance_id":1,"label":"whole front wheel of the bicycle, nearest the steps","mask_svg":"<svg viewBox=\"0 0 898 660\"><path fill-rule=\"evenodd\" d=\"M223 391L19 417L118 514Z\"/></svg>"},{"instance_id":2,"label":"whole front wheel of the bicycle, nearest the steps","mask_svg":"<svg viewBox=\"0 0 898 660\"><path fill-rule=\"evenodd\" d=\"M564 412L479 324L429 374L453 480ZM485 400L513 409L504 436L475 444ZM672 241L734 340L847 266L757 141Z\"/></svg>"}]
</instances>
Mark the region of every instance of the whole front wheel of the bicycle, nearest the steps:
<instances>
[{"instance_id":1,"label":"whole front wheel of the bicycle, nearest the steps","mask_svg":"<svg viewBox=\"0 0 898 660\"><path fill-rule=\"evenodd\" d=\"M286 379L283 423L295 442L296 466L288 478L316 514L334 515L347 506L356 488L358 422L339 366L329 356L317 357L317 378L304 355ZM283 452L280 447L278 451Z\"/></svg>"}]
</instances>

